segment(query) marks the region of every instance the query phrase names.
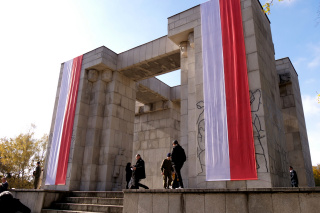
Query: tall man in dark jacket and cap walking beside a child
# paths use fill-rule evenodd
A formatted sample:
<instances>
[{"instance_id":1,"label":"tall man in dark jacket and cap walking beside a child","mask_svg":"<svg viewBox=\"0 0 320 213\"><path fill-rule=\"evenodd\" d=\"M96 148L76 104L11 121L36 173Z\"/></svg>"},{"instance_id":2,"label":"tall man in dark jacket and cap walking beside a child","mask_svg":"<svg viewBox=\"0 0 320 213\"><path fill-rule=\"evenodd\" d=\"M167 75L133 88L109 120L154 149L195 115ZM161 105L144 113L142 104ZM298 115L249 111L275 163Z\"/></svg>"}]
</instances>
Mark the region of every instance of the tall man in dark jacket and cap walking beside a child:
<instances>
[{"instance_id":1,"label":"tall man in dark jacket and cap walking beside a child","mask_svg":"<svg viewBox=\"0 0 320 213\"><path fill-rule=\"evenodd\" d=\"M184 149L179 145L178 141L175 140L172 142L172 154L171 154L171 159L172 159L172 164L175 170L175 178L173 180L172 188L178 188L179 184L181 188L183 187L183 181L181 177L180 170L186 161L186 153L184 152Z\"/></svg>"}]
</instances>

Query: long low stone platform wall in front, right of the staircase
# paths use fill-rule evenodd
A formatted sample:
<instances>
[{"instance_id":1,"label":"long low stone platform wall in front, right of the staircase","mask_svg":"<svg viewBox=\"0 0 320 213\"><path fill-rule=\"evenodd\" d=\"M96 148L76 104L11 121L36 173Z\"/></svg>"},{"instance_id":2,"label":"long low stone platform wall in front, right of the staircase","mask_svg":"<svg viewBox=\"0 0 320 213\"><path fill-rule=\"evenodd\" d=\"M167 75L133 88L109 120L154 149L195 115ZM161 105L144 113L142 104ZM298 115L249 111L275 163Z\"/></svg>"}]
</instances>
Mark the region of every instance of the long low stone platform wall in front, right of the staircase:
<instances>
[{"instance_id":1,"label":"long low stone platform wall in front, right of the staircase","mask_svg":"<svg viewBox=\"0 0 320 213\"><path fill-rule=\"evenodd\" d=\"M310 213L319 198L320 187L124 190L123 213Z\"/></svg>"}]
</instances>

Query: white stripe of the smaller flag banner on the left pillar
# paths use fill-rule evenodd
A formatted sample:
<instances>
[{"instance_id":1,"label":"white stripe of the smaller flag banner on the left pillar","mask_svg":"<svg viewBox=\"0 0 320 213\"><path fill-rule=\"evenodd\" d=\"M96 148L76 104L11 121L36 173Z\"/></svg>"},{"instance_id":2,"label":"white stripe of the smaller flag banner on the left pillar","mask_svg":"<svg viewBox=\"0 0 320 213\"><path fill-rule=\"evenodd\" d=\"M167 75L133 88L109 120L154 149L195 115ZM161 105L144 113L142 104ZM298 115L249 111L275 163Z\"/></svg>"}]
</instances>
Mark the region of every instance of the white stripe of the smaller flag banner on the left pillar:
<instances>
[{"instance_id":1,"label":"white stripe of the smaller flag banner on the left pillar","mask_svg":"<svg viewBox=\"0 0 320 213\"><path fill-rule=\"evenodd\" d=\"M63 128L65 108L67 103L67 96L69 91L72 63L73 63L73 60L70 60L65 62L63 66L56 121L54 124L50 155L48 158L47 175L46 175L46 181L45 181L46 185L55 185L55 182L56 182L59 150L60 150L60 144L61 144L61 134L62 134L62 128Z\"/></svg>"}]
</instances>

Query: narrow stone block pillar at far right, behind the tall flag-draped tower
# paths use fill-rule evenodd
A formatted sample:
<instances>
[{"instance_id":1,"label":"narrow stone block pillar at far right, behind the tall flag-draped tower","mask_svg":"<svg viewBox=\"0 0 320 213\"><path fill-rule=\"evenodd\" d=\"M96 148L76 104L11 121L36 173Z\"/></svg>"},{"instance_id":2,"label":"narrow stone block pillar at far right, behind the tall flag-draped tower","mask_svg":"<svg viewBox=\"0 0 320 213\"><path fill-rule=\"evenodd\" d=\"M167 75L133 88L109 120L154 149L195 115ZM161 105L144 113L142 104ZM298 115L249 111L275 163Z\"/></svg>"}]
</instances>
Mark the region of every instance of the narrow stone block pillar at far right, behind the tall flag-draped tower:
<instances>
[{"instance_id":1,"label":"narrow stone block pillar at far right, behind the tall flag-draped tower","mask_svg":"<svg viewBox=\"0 0 320 213\"><path fill-rule=\"evenodd\" d=\"M314 177L298 74L289 58L276 61L281 107L290 165L297 171L299 186L314 186Z\"/></svg>"}]
</instances>

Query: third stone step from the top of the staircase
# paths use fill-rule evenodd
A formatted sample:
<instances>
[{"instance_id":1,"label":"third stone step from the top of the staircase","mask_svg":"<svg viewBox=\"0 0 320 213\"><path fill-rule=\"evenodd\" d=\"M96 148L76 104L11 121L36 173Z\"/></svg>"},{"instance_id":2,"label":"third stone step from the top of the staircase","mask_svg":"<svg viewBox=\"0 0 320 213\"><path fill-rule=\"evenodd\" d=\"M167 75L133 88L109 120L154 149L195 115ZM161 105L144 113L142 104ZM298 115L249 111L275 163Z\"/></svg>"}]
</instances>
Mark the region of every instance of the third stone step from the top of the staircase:
<instances>
[{"instance_id":1,"label":"third stone step from the top of the staircase","mask_svg":"<svg viewBox=\"0 0 320 213\"><path fill-rule=\"evenodd\" d=\"M89 212L108 212L122 213L123 206L100 205L100 204L79 204L79 203L56 203L54 209L89 211Z\"/></svg>"}]
</instances>

